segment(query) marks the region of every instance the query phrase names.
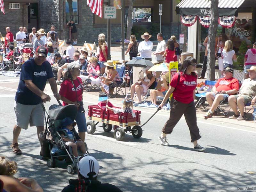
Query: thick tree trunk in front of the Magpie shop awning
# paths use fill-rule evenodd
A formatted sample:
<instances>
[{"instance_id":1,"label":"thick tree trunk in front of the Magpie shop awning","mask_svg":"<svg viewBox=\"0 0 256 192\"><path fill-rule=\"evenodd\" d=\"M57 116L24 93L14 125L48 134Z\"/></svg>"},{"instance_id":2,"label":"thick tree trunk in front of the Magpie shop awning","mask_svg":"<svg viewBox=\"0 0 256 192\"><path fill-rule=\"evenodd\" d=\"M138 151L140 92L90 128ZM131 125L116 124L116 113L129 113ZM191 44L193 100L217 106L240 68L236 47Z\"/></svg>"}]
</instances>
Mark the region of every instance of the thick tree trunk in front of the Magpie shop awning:
<instances>
[{"instance_id":1,"label":"thick tree trunk in front of the Magpie shop awning","mask_svg":"<svg viewBox=\"0 0 256 192\"><path fill-rule=\"evenodd\" d=\"M211 0L211 22L208 31L208 44L207 44L207 80L215 81L215 39L218 28L218 11L219 1Z\"/></svg>"}]
</instances>

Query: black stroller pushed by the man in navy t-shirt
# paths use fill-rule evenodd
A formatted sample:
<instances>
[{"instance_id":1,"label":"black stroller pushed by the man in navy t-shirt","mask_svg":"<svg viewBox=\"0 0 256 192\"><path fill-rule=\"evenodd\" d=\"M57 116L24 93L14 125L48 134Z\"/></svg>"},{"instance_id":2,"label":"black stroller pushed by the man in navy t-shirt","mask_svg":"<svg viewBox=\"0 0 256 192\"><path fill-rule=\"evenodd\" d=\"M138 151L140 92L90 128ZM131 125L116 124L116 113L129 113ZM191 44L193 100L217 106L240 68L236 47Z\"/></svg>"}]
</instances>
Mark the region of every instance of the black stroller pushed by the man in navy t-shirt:
<instances>
[{"instance_id":1,"label":"black stroller pushed by the man in navy t-shirt","mask_svg":"<svg viewBox=\"0 0 256 192\"><path fill-rule=\"evenodd\" d=\"M60 104L60 101L58 102ZM42 106L44 112L46 112L44 105ZM61 128L62 119L70 117L74 121L77 114L77 107L74 104L69 104L66 106L61 106L61 104L55 104L50 106L49 114L47 112L46 114L47 120L45 118L45 132L42 135L44 141L42 144L40 155L49 158L47 160L48 167L54 167L56 160L62 161L65 159L66 163L72 163L67 166L68 173L72 174L76 172L76 162L74 161L72 148L70 146L65 146L65 142L61 138L59 131ZM76 131L75 135L78 136ZM84 144L86 148L86 153L90 155L86 143ZM82 152L79 150L79 148L78 154L82 156Z\"/></svg>"}]
</instances>

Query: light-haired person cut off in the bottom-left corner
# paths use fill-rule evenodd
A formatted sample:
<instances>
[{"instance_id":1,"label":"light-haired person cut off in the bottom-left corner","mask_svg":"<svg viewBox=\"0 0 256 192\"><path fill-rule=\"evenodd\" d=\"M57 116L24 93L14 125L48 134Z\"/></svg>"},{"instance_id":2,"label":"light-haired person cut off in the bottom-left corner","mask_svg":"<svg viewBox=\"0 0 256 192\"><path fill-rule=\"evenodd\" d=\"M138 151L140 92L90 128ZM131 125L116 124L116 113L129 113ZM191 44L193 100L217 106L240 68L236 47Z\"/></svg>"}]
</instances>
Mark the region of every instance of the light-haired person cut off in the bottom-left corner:
<instances>
[{"instance_id":1,"label":"light-haired person cut off in the bottom-left corner","mask_svg":"<svg viewBox=\"0 0 256 192\"><path fill-rule=\"evenodd\" d=\"M17 168L15 161L10 161L8 158L0 156L1 191L43 191L34 179L13 177L17 172Z\"/></svg>"}]
</instances>

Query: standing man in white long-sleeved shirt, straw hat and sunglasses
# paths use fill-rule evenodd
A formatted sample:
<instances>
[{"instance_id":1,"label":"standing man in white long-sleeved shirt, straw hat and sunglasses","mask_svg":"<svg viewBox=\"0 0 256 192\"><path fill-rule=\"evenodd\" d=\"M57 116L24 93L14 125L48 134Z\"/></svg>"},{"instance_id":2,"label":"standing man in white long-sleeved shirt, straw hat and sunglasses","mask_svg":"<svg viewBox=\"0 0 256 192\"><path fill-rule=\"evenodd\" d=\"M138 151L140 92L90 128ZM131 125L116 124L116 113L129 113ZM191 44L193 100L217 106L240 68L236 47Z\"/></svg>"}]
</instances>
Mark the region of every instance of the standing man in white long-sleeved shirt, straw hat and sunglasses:
<instances>
[{"instance_id":1,"label":"standing man in white long-sleeved shirt, straw hat and sunglasses","mask_svg":"<svg viewBox=\"0 0 256 192\"><path fill-rule=\"evenodd\" d=\"M141 38L145 40L140 42L138 52L140 53L140 57L144 57L146 60L152 61L151 51L153 49L153 43L148 40L150 37L151 35L148 33L141 35Z\"/></svg>"}]
</instances>

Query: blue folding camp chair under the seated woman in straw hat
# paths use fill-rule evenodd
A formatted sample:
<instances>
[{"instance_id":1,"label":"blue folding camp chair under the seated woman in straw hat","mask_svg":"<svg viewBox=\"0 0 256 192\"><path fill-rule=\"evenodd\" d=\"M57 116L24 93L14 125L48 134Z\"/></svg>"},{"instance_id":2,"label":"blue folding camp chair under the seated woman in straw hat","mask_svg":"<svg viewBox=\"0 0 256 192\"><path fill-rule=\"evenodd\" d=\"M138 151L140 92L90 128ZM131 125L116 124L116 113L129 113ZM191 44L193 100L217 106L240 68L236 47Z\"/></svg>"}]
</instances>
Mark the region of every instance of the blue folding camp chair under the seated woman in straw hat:
<instances>
[{"instance_id":1,"label":"blue folding camp chair under the seated woman in straw hat","mask_svg":"<svg viewBox=\"0 0 256 192\"><path fill-rule=\"evenodd\" d=\"M115 78L114 82L112 82L111 84L109 84L109 90L110 89L114 89L113 94L111 94L109 92L109 95L111 97L115 97L119 92L121 92L123 95L126 95L126 89L125 89L125 81L124 81L124 77L125 77L125 66L122 65L116 65L116 71L119 75L118 78ZM116 79L121 79L121 83L117 84L116 83ZM122 90L122 88L124 87L124 91ZM116 88L116 89L115 89Z\"/></svg>"}]
</instances>

